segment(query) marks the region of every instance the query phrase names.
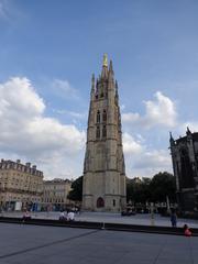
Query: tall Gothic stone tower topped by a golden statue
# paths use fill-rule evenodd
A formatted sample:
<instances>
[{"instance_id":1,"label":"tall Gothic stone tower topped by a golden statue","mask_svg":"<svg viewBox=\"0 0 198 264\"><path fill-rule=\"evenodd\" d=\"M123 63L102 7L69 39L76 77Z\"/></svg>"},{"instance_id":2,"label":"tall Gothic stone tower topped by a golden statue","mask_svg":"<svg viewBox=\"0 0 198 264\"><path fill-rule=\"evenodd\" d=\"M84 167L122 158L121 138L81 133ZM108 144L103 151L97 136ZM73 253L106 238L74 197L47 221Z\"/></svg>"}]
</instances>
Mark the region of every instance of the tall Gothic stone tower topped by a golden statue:
<instances>
[{"instance_id":1,"label":"tall Gothic stone tower topped by a golden statue","mask_svg":"<svg viewBox=\"0 0 198 264\"><path fill-rule=\"evenodd\" d=\"M112 62L103 56L101 75L92 75L84 163L82 208L120 211L125 207L125 167L122 150L118 84Z\"/></svg>"}]
</instances>

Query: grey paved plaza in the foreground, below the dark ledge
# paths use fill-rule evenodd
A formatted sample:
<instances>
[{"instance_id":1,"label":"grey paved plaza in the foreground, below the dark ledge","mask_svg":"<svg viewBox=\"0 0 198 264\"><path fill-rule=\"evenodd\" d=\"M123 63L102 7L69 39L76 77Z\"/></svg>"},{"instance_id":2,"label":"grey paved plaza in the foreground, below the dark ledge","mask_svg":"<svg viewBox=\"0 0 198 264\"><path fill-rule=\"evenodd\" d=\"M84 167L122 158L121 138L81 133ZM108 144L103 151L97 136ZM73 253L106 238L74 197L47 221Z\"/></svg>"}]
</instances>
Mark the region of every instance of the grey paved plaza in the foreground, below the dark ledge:
<instances>
[{"instance_id":1,"label":"grey paved plaza in the foreground, below the dark ledge","mask_svg":"<svg viewBox=\"0 0 198 264\"><path fill-rule=\"evenodd\" d=\"M0 223L0 264L196 264L198 238Z\"/></svg>"}]
</instances>

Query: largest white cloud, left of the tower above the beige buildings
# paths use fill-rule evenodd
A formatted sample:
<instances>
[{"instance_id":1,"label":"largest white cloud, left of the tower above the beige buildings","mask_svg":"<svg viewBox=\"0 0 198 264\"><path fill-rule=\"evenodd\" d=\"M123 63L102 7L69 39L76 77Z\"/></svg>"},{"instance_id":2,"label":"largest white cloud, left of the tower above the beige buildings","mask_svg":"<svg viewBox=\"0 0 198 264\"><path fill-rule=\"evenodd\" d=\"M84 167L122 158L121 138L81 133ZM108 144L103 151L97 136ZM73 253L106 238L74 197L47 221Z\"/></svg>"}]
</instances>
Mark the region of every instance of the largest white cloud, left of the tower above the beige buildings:
<instances>
[{"instance_id":1,"label":"largest white cloud, left of the tower above the beige buildings","mask_svg":"<svg viewBox=\"0 0 198 264\"><path fill-rule=\"evenodd\" d=\"M85 146L85 132L73 124L44 116L45 103L28 78L11 78L0 84L0 148L8 156L32 158L57 174L61 169L76 172L68 161ZM59 164L56 170L55 163ZM76 161L79 164L79 161ZM67 167L65 167L67 165Z\"/></svg>"}]
</instances>

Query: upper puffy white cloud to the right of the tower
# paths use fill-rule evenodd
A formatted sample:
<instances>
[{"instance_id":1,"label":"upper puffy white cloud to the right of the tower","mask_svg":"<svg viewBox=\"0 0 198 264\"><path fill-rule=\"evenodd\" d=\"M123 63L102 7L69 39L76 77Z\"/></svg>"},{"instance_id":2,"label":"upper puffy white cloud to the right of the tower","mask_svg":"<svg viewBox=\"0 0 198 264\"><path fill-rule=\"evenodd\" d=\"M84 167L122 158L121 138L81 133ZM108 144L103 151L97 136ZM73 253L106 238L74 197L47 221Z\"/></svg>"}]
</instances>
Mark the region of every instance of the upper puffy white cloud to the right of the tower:
<instances>
[{"instance_id":1,"label":"upper puffy white cloud to the right of the tower","mask_svg":"<svg viewBox=\"0 0 198 264\"><path fill-rule=\"evenodd\" d=\"M177 112L174 101L161 91L157 91L154 97L155 100L153 101L144 101L145 114L143 117L139 113L123 113L123 122L140 125L144 129L151 129L156 125L174 128L177 124Z\"/></svg>"}]
</instances>

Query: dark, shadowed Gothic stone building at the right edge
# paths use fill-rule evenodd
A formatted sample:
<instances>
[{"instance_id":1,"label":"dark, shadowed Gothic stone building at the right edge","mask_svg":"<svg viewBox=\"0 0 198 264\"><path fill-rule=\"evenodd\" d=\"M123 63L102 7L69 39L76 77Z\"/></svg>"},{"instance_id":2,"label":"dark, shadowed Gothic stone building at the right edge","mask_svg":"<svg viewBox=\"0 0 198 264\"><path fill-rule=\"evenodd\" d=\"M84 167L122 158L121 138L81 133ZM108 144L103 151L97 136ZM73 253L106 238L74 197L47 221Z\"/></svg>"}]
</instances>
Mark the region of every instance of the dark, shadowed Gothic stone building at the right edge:
<instances>
[{"instance_id":1,"label":"dark, shadowed Gothic stone building at the right edge","mask_svg":"<svg viewBox=\"0 0 198 264\"><path fill-rule=\"evenodd\" d=\"M184 211L198 210L198 133L187 128L186 136L169 139L177 201Z\"/></svg>"}]
</instances>

